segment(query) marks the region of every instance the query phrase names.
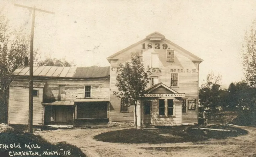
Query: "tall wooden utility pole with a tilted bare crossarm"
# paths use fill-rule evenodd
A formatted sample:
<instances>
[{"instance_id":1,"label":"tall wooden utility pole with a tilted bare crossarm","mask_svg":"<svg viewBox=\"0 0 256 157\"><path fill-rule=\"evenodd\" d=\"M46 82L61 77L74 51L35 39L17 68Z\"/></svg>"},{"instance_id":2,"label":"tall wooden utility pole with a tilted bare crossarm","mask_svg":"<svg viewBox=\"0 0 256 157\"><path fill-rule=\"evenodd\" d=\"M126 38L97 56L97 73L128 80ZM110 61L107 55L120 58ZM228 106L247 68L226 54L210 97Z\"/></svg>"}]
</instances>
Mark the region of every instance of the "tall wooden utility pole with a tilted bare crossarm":
<instances>
[{"instance_id":1,"label":"tall wooden utility pole with a tilted bare crossarm","mask_svg":"<svg viewBox=\"0 0 256 157\"><path fill-rule=\"evenodd\" d=\"M35 17L36 11L41 11L44 13L55 14L50 11L45 11L42 9L37 9L36 6L27 7L25 5L14 4L14 6L27 8L30 11L32 10L32 27L30 33L30 56L29 56L29 126L28 130L30 133L33 132L33 41L34 41L34 29L35 29Z\"/></svg>"}]
</instances>

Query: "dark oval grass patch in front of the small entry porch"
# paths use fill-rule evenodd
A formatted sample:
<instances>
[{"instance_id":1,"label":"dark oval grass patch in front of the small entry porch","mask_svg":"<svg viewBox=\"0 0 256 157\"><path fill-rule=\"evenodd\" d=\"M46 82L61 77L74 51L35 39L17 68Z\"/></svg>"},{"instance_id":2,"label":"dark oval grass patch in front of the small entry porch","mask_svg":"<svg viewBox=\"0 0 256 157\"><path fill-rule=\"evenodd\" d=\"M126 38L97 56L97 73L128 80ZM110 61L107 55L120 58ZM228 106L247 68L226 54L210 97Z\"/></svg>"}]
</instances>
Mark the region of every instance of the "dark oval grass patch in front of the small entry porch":
<instances>
[{"instance_id":1,"label":"dark oval grass patch in front of the small entry porch","mask_svg":"<svg viewBox=\"0 0 256 157\"><path fill-rule=\"evenodd\" d=\"M207 128L227 129L226 131L203 131L192 129L197 126L173 126L161 128L158 131L143 129L123 129L117 131L104 132L94 136L95 140L103 142L119 143L179 143L179 142L198 142L209 138L225 139L231 136L246 135L248 132L232 126L212 125Z\"/></svg>"}]
</instances>

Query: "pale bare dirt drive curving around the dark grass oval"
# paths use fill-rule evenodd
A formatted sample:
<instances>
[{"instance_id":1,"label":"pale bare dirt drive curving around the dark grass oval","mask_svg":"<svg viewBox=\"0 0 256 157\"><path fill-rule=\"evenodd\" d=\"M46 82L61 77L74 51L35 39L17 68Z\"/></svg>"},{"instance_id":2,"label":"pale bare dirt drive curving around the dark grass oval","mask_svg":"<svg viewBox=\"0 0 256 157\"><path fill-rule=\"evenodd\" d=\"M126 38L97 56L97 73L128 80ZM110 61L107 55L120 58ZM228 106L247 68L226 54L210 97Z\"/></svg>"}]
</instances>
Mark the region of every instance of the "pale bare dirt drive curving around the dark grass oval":
<instances>
[{"instance_id":1,"label":"pale bare dirt drive curving around the dark grass oval","mask_svg":"<svg viewBox=\"0 0 256 157\"><path fill-rule=\"evenodd\" d=\"M202 142L165 143L165 144L123 144L96 141L93 139L107 131L123 128L104 129L69 129L54 131L38 131L49 142L67 142L73 144L89 157L137 157L137 156L184 156L184 157L218 157L218 156L248 156L256 157L256 128L241 127L248 130L248 135L229 137L224 140L210 139ZM115 137L113 137L115 138Z\"/></svg>"}]
</instances>

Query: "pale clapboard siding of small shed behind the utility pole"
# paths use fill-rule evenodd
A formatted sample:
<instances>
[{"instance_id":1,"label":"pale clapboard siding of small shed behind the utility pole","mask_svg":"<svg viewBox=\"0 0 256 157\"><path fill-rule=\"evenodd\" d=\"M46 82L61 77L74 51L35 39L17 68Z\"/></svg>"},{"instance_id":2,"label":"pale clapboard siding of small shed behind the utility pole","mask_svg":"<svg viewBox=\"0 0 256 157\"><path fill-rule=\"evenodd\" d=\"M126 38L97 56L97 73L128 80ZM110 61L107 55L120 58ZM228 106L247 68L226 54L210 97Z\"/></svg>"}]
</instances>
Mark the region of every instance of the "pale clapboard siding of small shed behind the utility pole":
<instances>
[{"instance_id":1,"label":"pale clapboard siding of small shed behind the utility pole","mask_svg":"<svg viewBox=\"0 0 256 157\"><path fill-rule=\"evenodd\" d=\"M43 88L38 89L38 97L33 97L33 125L43 124ZM29 117L29 88L10 87L8 106L9 124L28 124Z\"/></svg>"}]
</instances>

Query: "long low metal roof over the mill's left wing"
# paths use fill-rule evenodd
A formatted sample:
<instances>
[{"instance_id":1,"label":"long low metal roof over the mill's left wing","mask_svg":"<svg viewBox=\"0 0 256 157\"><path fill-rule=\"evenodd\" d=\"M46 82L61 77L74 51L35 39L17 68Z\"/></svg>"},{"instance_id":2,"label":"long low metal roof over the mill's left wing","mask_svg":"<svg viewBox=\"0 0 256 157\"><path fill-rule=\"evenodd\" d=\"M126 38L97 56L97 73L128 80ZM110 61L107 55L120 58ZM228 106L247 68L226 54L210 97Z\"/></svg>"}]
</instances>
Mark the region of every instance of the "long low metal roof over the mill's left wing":
<instances>
[{"instance_id":1,"label":"long low metal roof over the mill's left wing","mask_svg":"<svg viewBox=\"0 0 256 157\"><path fill-rule=\"evenodd\" d=\"M29 76L29 66L20 66L13 76ZM54 67L34 66L33 76L63 78L99 78L109 77L110 67Z\"/></svg>"}]
</instances>

